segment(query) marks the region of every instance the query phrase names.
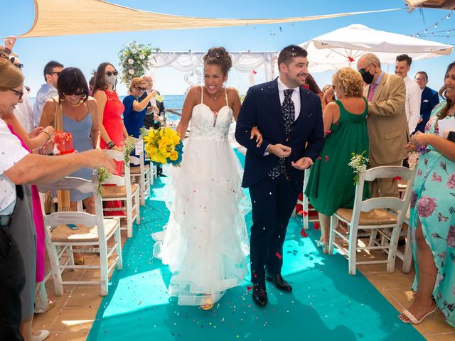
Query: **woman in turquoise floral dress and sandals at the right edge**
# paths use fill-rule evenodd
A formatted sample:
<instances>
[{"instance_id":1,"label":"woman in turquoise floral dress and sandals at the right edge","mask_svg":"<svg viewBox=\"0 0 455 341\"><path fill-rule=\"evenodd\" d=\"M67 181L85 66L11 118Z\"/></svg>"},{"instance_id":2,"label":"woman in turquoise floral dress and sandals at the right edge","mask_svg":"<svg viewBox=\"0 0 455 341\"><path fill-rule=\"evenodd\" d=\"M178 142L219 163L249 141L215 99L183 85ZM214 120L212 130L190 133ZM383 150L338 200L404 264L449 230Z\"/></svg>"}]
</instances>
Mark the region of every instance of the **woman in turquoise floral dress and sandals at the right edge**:
<instances>
[{"instance_id":1,"label":"woman in turquoise floral dress and sandals at the right edge","mask_svg":"<svg viewBox=\"0 0 455 341\"><path fill-rule=\"evenodd\" d=\"M407 146L422 153L410 212L415 298L399 317L417 324L437 310L455 327L455 142L439 137L439 122L455 119L455 62L439 94L446 100L434 107L425 134L417 133Z\"/></svg>"}]
</instances>

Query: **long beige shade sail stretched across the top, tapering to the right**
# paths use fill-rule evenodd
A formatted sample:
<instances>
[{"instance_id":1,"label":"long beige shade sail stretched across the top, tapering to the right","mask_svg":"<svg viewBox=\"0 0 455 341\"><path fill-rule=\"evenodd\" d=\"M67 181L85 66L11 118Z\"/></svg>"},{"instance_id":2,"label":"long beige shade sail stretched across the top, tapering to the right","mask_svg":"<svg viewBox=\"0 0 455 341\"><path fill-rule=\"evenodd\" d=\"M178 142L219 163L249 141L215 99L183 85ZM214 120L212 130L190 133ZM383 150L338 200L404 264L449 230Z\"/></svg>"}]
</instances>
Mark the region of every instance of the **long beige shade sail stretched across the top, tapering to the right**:
<instances>
[{"instance_id":1,"label":"long beige shade sail stretched across the top, tapering to the right","mask_svg":"<svg viewBox=\"0 0 455 341\"><path fill-rule=\"evenodd\" d=\"M21 38L72 36L76 34L112 33L127 31L213 28L261 25L267 23L295 23L365 13L397 11L383 9L336 13L321 16L272 19L193 18L130 9L102 0L35 0L35 21Z\"/></svg>"}]
</instances>

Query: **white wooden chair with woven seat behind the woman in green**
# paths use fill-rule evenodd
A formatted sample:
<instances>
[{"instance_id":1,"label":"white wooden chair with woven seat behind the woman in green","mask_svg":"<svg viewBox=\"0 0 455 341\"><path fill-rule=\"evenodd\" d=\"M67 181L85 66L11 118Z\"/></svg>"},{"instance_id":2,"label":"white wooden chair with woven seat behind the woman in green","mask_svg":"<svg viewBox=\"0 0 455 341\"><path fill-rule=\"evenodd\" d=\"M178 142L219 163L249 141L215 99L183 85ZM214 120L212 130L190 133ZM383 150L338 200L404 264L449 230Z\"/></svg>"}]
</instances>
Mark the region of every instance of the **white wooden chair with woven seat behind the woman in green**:
<instances>
[{"instance_id":1,"label":"white wooden chair with woven seat behind the woman in green","mask_svg":"<svg viewBox=\"0 0 455 341\"><path fill-rule=\"evenodd\" d=\"M410 170L409 168L402 166L381 166L368 170L363 166L362 171L359 173L358 184L355 186L353 209L339 208L331 217L328 254L333 254L333 248L337 247L338 251L348 256L349 274L355 275L356 264L387 263L387 272L392 273L395 271L397 244L400 237L401 226L403 220L405 220L407 207L410 205L415 171L415 169ZM376 178L395 178L397 176L408 181L407 190L402 198L373 197L368 200L362 200L365 181L373 181ZM394 214L391 211L395 211L397 214ZM348 224L348 237L345 237L343 233L337 231L338 220ZM358 247L358 229L369 229L371 231L370 243L368 246ZM382 244L380 242L374 242L377 233L380 233L388 239L388 243ZM336 242L336 237L348 242L348 250ZM370 249L387 250L387 260L356 262L356 253L358 250Z\"/></svg>"}]
</instances>

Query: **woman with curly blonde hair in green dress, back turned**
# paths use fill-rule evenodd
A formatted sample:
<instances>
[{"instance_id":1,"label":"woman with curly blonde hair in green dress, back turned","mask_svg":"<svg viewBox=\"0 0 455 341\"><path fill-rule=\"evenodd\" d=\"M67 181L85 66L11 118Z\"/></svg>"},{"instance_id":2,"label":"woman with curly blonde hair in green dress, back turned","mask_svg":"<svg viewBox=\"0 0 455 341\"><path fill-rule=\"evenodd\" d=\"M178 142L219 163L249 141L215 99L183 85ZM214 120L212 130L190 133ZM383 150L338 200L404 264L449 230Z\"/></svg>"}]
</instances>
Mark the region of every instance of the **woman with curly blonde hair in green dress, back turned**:
<instances>
[{"instance_id":1,"label":"woman with curly blonde hair in green dress, back turned","mask_svg":"<svg viewBox=\"0 0 455 341\"><path fill-rule=\"evenodd\" d=\"M354 204L354 173L348 166L352 154L365 152L368 158L368 102L363 97L360 73L343 67L333 75L333 88L338 100L327 104L323 112L326 143L311 167L305 190L311 205L319 212L321 239L317 245L323 247L324 253L330 216L338 208L352 208Z\"/></svg>"}]
</instances>

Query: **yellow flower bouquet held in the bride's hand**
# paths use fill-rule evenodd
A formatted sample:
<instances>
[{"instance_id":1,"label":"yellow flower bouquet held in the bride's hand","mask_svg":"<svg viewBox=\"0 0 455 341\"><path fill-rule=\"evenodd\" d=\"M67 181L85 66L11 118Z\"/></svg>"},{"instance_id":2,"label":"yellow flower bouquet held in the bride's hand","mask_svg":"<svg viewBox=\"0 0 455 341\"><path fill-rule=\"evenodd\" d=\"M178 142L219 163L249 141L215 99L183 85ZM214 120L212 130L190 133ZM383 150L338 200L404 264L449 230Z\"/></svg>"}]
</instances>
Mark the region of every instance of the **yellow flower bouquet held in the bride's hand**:
<instances>
[{"instance_id":1,"label":"yellow flower bouquet held in the bride's hand","mask_svg":"<svg viewBox=\"0 0 455 341\"><path fill-rule=\"evenodd\" d=\"M171 128L150 129L144 136L144 148L151 161L180 166L183 144L180 136Z\"/></svg>"}]
</instances>

